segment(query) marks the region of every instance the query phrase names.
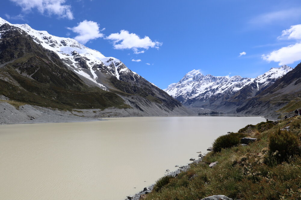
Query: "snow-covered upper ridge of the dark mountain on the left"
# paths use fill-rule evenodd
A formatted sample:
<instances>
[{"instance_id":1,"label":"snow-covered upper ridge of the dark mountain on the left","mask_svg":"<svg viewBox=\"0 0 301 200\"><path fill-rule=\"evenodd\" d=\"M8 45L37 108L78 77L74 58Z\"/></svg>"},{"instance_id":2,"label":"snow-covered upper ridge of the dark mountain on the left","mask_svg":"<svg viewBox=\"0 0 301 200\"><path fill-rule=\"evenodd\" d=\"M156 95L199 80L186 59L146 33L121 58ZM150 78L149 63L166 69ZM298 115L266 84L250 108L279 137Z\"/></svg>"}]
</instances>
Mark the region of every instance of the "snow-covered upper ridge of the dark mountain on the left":
<instances>
[{"instance_id":1,"label":"snow-covered upper ridge of the dark mountain on the left","mask_svg":"<svg viewBox=\"0 0 301 200\"><path fill-rule=\"evenodd\" d=\"M119 80L122 80L120 76L128 73L134 79L139 77L137 73L129 70L120 60L113 57L105 57L101 52L89 49L74 39L57 37L49 34L47 31L37 31L27 24L11 24L0 17L0 25L5 23L24 30L36 43L41 44L45 49L57 53L62 61L71 67L74 72L95 82L105 90L107 90L107 87L104 85L99 72L116 76Z\"/></svg>"}]
</instances>

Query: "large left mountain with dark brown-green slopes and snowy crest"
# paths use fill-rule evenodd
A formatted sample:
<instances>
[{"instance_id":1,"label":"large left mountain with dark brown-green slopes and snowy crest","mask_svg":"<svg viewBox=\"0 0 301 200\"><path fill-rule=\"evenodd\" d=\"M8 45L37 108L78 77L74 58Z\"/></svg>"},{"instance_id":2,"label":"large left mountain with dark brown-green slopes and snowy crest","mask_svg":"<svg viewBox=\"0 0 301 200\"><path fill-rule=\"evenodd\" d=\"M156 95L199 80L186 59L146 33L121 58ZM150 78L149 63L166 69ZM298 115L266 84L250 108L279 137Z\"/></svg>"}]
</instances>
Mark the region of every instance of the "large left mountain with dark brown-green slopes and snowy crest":
<instances>
[{"instance_id":1,"label":"large left mountain with dark brown-green slopes and snowy crest","mask_svg":"<svg viewBox=\"0 0 301 200\"><path fill-rule=\"evenodd\" d=\"M2 18L0 88L0 97L54 109L127 109L140 116L190 113L120 60Z\"/></svg>"}]
</instances>

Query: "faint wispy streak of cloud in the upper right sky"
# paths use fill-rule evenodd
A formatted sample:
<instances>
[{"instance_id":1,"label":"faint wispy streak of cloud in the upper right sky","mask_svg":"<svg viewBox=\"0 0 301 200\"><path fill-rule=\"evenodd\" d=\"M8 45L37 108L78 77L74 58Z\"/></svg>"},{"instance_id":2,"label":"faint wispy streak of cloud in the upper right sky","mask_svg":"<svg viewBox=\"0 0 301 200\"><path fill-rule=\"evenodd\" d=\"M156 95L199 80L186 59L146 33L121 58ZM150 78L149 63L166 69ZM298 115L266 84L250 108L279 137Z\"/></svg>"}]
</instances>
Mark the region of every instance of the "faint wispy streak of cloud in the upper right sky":
<instances>
[{"instance_id":1,"label":"faint wispy streak of cloud in the upper right sky","mask_svg":"<svg viewBox=\"0 0 301 200\"><path fill-rule=\"evenodd\" d=\"M279 23L281 21L292 19L295 20L299 19L299 17L301 17L301 7L295 7L261 14L251 19L249 23L256 25L265 25L273 22Z\"/></svg>"}]
</instances>

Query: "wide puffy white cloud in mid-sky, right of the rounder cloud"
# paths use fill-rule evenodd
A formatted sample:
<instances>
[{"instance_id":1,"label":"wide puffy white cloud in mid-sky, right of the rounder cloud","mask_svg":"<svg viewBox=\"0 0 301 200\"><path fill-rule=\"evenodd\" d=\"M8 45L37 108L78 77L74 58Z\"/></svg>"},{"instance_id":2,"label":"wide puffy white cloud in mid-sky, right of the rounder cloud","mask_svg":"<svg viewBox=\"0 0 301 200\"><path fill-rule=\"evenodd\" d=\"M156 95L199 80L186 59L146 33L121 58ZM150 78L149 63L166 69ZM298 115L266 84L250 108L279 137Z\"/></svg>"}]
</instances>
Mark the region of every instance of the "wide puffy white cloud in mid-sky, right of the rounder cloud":
<instances>
[{"instance_id":1,"label":"wide puffy white cloud in mid-sky, right of the rounder cloud","mask_svg":"<svg viewBox=\"0 0 301 200\"><path fill-rule=\"evenodd\" d=\"M129 33L129 31L126 30L121 30L120 33L112 33L106 37L106 39L113 41L114 49L132 49L135 54L144 53L144 50L139 51L139 48L159 49L159 46L162 45L160 42L152 41L148 36L140 38L139 35Z\"/></svg>"}]
</instances>

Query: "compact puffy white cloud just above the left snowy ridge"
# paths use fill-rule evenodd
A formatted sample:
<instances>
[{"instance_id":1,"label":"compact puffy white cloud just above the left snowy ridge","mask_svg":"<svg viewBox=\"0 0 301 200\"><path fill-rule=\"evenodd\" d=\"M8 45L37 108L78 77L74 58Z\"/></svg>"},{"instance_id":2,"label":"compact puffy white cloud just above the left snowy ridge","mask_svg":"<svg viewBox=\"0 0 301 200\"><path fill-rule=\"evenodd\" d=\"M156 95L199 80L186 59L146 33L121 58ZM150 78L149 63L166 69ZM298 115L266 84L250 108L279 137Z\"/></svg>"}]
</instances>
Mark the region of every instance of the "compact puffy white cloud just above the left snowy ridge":
<instances>
[{"instance_id":1,"label":"compact puffy white cloud just above the left snowy ridge","mask_svg":"<svg viewBox=\"0 0 301 200\"><path fill-rule=\"evenodd\" d=\"M93 21L84 20L78 23L77 26L68 29L78 33L78 36L74 37L74 39L83 44L87 43L89 40L104 37L104 34L100 33L99 24Z\"/></svg>"}]
</instances>

